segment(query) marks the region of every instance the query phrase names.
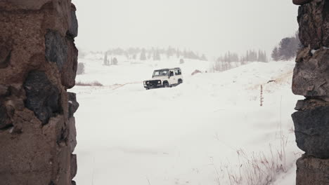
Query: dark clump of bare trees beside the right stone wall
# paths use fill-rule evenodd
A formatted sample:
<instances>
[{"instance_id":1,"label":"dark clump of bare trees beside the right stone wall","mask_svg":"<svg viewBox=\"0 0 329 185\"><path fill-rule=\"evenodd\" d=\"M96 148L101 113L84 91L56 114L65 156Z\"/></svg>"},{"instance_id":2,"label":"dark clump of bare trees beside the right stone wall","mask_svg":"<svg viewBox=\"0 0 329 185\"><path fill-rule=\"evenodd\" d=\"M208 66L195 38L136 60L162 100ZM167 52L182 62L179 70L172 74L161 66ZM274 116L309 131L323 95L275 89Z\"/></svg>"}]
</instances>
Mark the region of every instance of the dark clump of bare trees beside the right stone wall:
<instances>
[{"instance_id":1,"label":"dark clump of bare trees beside the right stone wall","mask_svg":"<svg viewBox=\"0 0 329 185\"><path fill-rule=\"evenodd\" d=\"M278 46L273 48L271 57L274 61L292 60L292 58L296 57L297 50L299 50L300 45L301 43L297 32L295 36L281 39Z\"/></svg>"}]
</instances>

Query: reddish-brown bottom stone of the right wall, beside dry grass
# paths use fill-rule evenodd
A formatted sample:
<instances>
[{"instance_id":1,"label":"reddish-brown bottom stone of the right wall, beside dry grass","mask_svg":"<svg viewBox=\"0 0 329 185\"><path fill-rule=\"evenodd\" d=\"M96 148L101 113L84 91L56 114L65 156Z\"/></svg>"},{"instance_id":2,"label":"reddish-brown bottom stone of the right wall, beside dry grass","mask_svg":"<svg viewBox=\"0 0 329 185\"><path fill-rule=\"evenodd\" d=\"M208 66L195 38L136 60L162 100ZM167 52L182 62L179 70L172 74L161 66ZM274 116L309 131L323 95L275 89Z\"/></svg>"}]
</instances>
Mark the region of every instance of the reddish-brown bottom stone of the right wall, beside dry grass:
<instances>
[{"instance_id":1,"label":"reddish-brown bottom stone of the right wall, beside dry grass","mask_svg":"<svg viewBox=\"0 0 329 185\"><path fill-rule=\"evenodd\" d=\"M303 156L297 160L298 185L327 185L329 184L329 160Z\"/></svg>"}]
</instances>

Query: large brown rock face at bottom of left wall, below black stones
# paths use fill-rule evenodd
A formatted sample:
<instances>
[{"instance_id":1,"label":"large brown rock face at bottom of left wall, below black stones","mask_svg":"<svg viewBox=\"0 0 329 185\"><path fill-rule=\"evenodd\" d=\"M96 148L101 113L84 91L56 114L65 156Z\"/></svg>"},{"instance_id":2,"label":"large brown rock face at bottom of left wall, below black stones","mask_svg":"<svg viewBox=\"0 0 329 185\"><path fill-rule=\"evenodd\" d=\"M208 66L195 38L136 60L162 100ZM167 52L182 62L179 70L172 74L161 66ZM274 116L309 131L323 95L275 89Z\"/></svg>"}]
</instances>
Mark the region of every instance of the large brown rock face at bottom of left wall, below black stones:
<instances>
[{"instance_id":1,"label":"large brown rock face at bottom of left wall, below black stones","mask_svg":"<svg viewBox=\"0 0 329 185\"><path fill-rule=\"evenodd\" d=\"M18 135L0 130L0 184L69 184L57 179L67 176L65 169L69 168L63 165L70 161L70 151L56 143L63 116L52 118L44 128L32 123L22 124L23 132Z\"/></svg>"}]
</instances>

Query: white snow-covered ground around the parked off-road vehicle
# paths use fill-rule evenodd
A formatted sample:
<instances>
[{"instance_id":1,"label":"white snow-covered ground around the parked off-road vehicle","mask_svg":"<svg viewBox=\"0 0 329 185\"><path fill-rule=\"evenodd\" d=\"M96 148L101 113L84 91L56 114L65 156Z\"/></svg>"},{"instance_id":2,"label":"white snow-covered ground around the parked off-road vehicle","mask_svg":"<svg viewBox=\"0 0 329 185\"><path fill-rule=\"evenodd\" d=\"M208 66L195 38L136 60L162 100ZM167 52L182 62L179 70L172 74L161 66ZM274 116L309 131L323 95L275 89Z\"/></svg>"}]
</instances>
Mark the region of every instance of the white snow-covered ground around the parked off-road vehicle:
<instances>
[{"instance_id":1,"label":"white snow-covered ground around the parked off-road vehicle","mask_svg":"<svg viewBox=\"0 0 329 185\"><path fill-rule=\"evenodd\" d=\"M77 81L104 86L71 90L80 103L77 184L247 184L257 179L252 166L266 171L266 161L283 165L269 184L295 183L300 151L290 115L302 99L290 88L295 62L206 73L211 62L119 61L79 59L86 74ZM181 67L184 83L145 90L142 81L164 67ZM204 73L191 76L195 69Z\"/></svg>"}]
</instances>

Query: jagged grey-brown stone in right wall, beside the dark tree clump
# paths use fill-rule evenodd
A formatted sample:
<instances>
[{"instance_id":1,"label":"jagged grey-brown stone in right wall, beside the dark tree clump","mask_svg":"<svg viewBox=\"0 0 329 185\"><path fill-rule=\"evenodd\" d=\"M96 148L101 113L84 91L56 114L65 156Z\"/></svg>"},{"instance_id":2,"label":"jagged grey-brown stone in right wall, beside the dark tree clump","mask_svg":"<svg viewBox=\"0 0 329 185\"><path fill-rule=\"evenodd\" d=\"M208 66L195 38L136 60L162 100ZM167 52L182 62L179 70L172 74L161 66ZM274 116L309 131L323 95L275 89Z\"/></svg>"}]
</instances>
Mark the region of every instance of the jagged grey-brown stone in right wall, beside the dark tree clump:
<instances>
[{"instance_id":1,"label":"jagged grey-brown stone in right wall, beside the dark tree clump","mask_svg":"<svg viewBox=\"0 0 329 185\"><path fill-rule=\"evenodd\" d=\"M299 51L292 78L292 92L306 97L329 97L329 49Z\"/></svg>"}]
</instances>

